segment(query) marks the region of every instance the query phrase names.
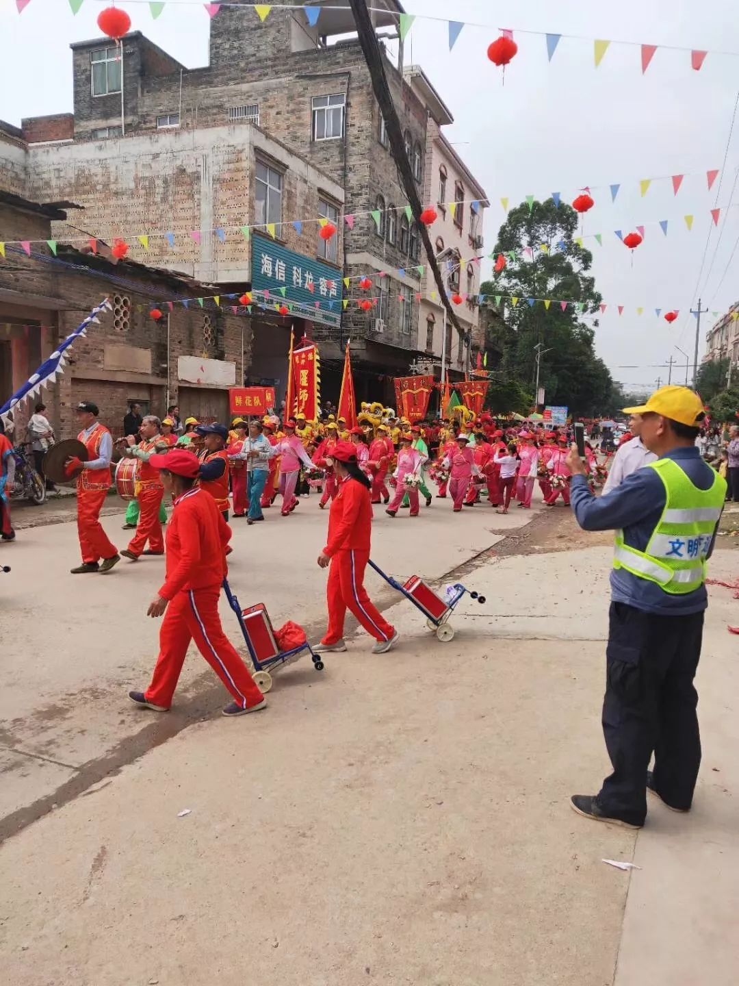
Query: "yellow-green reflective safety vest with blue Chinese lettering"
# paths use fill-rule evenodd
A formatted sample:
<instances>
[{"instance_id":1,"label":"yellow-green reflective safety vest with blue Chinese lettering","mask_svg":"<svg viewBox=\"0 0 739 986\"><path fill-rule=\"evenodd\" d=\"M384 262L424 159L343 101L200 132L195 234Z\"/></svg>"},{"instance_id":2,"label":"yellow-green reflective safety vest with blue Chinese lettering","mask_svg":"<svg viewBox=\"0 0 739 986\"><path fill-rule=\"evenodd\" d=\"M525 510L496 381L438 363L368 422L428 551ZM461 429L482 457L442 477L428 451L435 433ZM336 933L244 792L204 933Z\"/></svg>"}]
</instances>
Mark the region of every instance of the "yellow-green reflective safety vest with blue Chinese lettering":
<instances>
[{"instance_id":1,"label":"yellow-green reflective safety vest with blue Chinese lettering","mask_svg":"<svg viewBox=\"0 0 739 986\"><path fill-rule=\"evenodd\" d=\"M694 593L705 582L705 558L723 510L726 480L716 473L712 486L701 490L672 458L644 468L654 469L664 483L665 507L645 551L627 544L623 530L616 532L613 566L656 582L672 596Z\"/></svg>"}]
</instances>

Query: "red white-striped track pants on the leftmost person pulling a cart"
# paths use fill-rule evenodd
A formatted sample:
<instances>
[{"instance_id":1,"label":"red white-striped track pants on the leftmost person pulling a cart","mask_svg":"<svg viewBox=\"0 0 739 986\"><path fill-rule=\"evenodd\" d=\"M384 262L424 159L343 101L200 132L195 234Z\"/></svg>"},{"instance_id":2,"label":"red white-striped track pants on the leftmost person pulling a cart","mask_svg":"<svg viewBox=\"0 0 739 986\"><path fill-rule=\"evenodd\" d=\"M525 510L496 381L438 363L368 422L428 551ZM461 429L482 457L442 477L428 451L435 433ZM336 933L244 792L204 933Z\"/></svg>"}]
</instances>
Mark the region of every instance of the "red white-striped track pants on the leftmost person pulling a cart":
<instances>
[{"instance_id":1,"label":"red white-striped track pants on the leftmost person pulling a cart","mask_svg":"<svg viewBox=\"0 0 739 986\"><path fill-rule=\"evenodd\" d=\"M221 626L220 595L221 587L212 586L177 593L169 602L159 635L157 667L145 692L147 702L169 708L190 641L242 709L261 702L261 691Z\"/></svg>"}]
</instances>

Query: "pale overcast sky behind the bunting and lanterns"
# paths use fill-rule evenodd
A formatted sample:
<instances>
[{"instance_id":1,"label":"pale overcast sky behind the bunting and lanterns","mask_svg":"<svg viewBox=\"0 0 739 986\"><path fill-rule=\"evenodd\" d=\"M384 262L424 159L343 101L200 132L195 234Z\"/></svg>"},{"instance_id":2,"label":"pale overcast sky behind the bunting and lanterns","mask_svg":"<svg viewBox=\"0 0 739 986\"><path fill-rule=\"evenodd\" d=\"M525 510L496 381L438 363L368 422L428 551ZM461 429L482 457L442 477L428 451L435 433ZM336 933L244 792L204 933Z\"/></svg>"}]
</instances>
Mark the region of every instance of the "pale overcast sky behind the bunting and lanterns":
<instances>
[{"instance_id":1,"label":"pale overcast sky behind the bunting and lanterns","mask_svg":"<svg viewBox=\"0 0 739 986\"><path fill-rule=\"evenodd\" d=\"M18 15L13 0L0 0L0 117L20 124L22 116L72 109L71 41L99 35L103 4L85 0L72 15L68 0L31 0ZM207 61L208 16L200 4L168 4L153 21L146 3L121 2L133 28L150 36L188 67ZM721 168L739 89L739 4L736 0L406 0L409 13L491 25L466 27L449 52L444 21L417 20L406 41L406 61L421 64L455 122L447 136L490 196L485 235L493 246L504 220L501 197L511 205L527 194L544 198L560 191L571 201L589 185L595 207L585 235L602 233L603 246L586 240L594 254L598 289L608 305L600 319L598 353L615 379L627 387L666 381L664 364L673 355L685 377L681 346L693 354L699 293L709 312L702 326L701 353L711 312L739 298L739 120L728 147L719 189L707 189L705 173ZM505 72L486 57L498 28L511 29L519 52ZM564 36L552 62L544 36ZM592 38L611 39L598 69ZM618 40L637 42L618 44ZM641 74L639 43L707 49L700 72L690 52L658 48ZM736 54L714 52L731 49ZM279 134L277 135L279 136ZM669 176L684 174L677 197ZM644 197L642 178L654 180ZM610 184L621 184L615 203ZM717 194L717 199L716 199ZM728 208L728 206L731 208ZM721 207L717 228L709 210ZM694 215L689 233L684 216ZM658 225L668 220L665 237ZM645 226L644 243L632 267L629 250L614 234ZM709 239L707 239L709 237ZM707 239L707 250L706 250ZM716 249L717 246L717 249ZM736 253L732 257L732 251ZM705 255L703 273L699 272ZM728 271L724 271L731 258ZM697 286L697 287L696 287ZM622 317L617 306L626 306ZM644 314L637 316L637 306ZM669 327L654 310L680 310ZM631 368L633 365L636 368ZM631 366L630 366L631 365Z\"/></svg>"}]
</instances>

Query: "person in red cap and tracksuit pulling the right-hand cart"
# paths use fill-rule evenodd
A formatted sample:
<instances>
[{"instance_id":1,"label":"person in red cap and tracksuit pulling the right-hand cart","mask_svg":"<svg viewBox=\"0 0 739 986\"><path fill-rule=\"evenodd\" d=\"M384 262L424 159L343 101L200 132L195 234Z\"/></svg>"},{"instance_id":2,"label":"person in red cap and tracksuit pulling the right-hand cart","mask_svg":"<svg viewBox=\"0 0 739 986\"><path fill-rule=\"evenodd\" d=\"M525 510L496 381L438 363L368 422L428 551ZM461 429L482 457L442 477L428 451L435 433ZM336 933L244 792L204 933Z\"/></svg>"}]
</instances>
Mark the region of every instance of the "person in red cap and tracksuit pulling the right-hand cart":
<instances>
[{"instance_id":1,"label":"person in red cap and tracksuit pulling the right-hand cart","mask_svg":"<svg viewBox=\"0 0 739 986\"><path fill-rule=\"evenodd\" d=\"M350 609L377 642L372 654L385 654L396 644L398 634L372 605L364 586L370 560L371 482L360 469L351 442L338 442L331 458L338 492L331 504L326 546L318 555L321 568L331 566L326 586L328 629L313 650L316 654L346 651L344 617Z\"/></svg>"}]
</instances>

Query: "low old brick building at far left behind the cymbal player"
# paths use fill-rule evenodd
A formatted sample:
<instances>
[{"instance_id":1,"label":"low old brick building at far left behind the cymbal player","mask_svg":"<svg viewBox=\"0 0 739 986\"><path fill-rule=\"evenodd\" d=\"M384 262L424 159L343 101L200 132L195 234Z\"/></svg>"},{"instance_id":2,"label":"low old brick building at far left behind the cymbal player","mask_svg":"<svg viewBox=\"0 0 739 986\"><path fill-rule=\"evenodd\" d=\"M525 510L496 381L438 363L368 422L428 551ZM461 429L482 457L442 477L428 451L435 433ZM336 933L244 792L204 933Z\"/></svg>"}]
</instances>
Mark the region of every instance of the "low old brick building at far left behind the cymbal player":
<instances>
[{"instance_id":1,"label":"low old brick building at far left behind the cymbal player","mask_svg":"<svg viewBox=\"0 0 739 986\"><path fill-rule=\"evenodd\" d=\"M65 219L58 206L0 194L0 229L9 240L50 240L50 224ZM64 374L43 393L57 434L74 433L72 408L84 398L100 405L101 418L114 434L121 433L131 400L159 415L168 403L178 402L184 415L226 420L229 387L248 379L257 319L234 314L226 299L221 307L207 300L202 308L173 303L169 312L168 300L207 298L213 287L135 261L117 261L102 243L98 250L83 252L60 243L54 255L50 246L34 245L28 256L20 246L5 247L0 403L107 297L112 313L101 316L101 323L75 343ZM149 314L155 303L165 312L159 323ZM260 319L268 331L269 315ZM16 412L21 434L31 411L26 403Z\"/></svg>"}]
</instances>

